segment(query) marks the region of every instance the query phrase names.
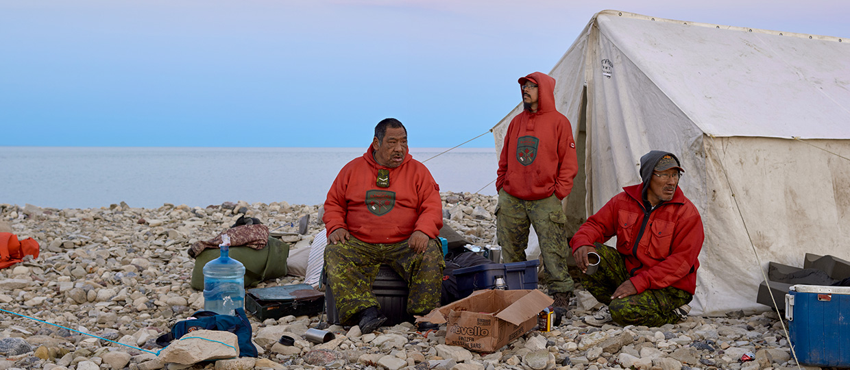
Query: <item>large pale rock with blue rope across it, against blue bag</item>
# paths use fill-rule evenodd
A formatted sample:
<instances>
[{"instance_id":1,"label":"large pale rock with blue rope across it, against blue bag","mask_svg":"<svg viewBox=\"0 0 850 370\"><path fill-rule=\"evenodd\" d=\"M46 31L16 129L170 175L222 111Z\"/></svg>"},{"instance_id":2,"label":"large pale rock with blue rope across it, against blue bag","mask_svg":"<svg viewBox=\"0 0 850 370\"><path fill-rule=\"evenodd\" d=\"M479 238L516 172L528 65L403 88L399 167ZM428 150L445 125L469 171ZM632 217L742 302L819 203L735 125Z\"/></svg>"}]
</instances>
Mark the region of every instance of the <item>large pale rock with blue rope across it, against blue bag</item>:
<instances>
[{"instance_id":1,"label":"large pale rock with blue rope across it, against blue bag","mask_svg":"<svg viewBox=\"0 0 850 370\"><path fill-rule=\"evenodd\" d=\"M160 352L161 360L192 365L201 361L239 356L239 339L234 333L195 330L191 337L175 340L169 344Z\"/></svg>"}]
</instances>

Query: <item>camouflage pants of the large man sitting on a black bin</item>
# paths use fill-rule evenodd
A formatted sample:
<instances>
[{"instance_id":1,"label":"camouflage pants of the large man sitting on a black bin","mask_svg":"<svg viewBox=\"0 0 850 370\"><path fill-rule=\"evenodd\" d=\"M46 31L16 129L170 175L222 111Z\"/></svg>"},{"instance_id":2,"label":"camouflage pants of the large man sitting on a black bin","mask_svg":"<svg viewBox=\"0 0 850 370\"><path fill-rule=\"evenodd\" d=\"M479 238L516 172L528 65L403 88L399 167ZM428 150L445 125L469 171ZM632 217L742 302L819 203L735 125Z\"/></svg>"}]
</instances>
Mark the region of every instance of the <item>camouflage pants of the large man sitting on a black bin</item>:
<instances>
[{"instance_id":1,"label":"camouflage pants of the large man sitting on a black bin","mask_svg":"<svg viewBox=\"0 0 850 370\"><path fill-rule=\"evenodd\" d=\"M415 253L407 241L394 244L370 244L354 236L348 242L325 248L325 270L333 291L340 322L356 324L357 314L379 307L371 286L381 265L389 265L407 282L407 311L424 315L439 305L443 283L443 251L432 239L423 253Z\"/></svg>"}]
</instances>

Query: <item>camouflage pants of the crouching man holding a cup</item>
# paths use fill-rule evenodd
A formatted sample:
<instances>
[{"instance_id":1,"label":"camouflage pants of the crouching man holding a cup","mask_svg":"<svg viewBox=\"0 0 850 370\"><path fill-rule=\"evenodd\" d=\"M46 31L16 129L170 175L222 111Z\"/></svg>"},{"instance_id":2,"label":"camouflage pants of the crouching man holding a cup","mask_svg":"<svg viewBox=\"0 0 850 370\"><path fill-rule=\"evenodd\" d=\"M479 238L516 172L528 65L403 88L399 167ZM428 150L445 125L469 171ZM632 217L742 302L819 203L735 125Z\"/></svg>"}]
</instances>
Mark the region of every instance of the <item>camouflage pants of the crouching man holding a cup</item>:
<instances>
[{"instance_id":1,"label":"camouflage pants of the crouching man holding a cup","mask_svg":"<svg viewBox=\"0 0 850 370\"><path fill-rule=\"evenodd\" d=\"M691 293L676 287L664 287L647 289L643 293L612 300L611 294L631 276L620 252L615 248L596 243L596 253L602 262L593 275L582 274L581 283L599 302L608 305L615 322L623 326L647 327L679 322L679 316L673 313L673 310L689 303L693 298Z\"/></svg>"}]
</instances>

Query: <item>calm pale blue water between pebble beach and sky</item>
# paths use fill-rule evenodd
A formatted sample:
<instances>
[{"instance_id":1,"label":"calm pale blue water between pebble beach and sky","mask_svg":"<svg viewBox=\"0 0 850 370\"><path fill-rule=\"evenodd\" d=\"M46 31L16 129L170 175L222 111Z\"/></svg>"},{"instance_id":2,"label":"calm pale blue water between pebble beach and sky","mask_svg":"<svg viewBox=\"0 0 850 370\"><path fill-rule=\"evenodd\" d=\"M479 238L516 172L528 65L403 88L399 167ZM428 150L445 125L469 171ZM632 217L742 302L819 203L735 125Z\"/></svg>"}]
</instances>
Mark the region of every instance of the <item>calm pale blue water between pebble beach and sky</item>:
<instances>
[{"instance_id":1,"label":"calm pale blue water between pebble beach and sky","mask_svg":"<svg viewBox=\"0 0 850 370\"><path fill-rule=\"evenodd\" d=\"M127 202L207 207L222 202L321 204L364 148L87 148L0 146L0 203L99 208ZM424 161L445 149L411 148ZM440 191L495 195L492 148L458 148L425 165ZM490 185L488 185L490 184Z\"/></svg>"}]
</instances>

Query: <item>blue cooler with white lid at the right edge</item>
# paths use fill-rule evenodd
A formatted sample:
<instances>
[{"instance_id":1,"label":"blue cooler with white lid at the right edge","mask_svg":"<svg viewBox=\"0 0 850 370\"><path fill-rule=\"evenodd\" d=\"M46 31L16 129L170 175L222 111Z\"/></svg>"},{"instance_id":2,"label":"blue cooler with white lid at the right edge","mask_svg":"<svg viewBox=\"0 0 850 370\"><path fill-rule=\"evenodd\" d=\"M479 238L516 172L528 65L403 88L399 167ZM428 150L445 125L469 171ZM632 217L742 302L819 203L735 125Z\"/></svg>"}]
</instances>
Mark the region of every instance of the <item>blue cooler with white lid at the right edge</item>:
<instances>
[{"instance_id":1,"label":"blue cooler with white lid at the right edge","mask_svg":"<svg viewBox=\"0 0 850 370\"><path fill-rule=\"evenodd\" d=\"M785 318L802 365L850 367L850 287L791 286Z\"/></svg>"}]
</instances>

